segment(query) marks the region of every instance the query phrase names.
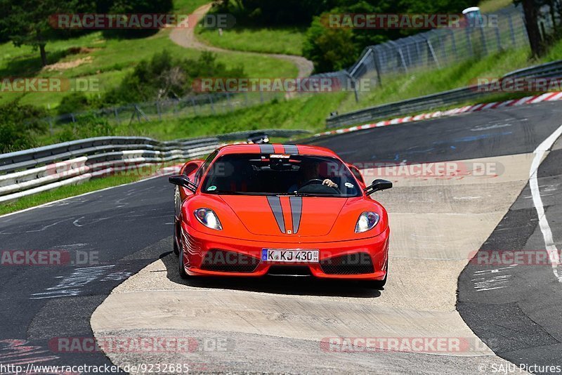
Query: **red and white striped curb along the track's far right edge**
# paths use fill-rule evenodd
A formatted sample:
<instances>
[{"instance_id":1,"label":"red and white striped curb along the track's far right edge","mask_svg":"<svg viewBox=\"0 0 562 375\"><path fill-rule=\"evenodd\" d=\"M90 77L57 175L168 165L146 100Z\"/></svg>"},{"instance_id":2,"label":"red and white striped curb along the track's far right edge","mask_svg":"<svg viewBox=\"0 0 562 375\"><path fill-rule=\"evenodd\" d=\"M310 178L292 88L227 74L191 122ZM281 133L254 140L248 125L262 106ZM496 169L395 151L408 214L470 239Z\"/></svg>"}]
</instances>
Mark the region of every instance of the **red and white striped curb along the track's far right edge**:
<instances>
[{"instance_id":1,"label":"red and white striped curb along the track's far right edge","mask_svg":"<svg viewBox=\"0 0 562 375\"><path fill-rule=\"evenodd\" d=\"M517 105L524 105L524 104L534 104L540 102L551 102L554 100L561 100L562 99L562 92L557 91L554 93L544 93L537 96L527 96L521 99L512 99L512 100L505 100L503 102L493 102L493 103L479 103L474 105L467 105L466 107L459 107L453 108L452 110L446 111L437 111L437 112L430 112L430 113L422 113L417 114L416 116L407 116L407 117L399 117L396 119L379 121L375 124L365 124L360 126L351 126L351 128L346 129L337 129L332 131L325 131L323 133L317 133L314 136L330 136L332 134L341 134L341 133L349 133L351 131L360 131L365 129L372 129L378 128L380 126L388 126L388 125L396 125L396 124L404 124L405 122L414 122L414 121L421 121L426 119L435 119L437 117L445 117L445 116L455 116L456 114L462 114L466 112L478 112L482 110L494 110L496 108L502 107L515 107Z\"/></svg>"}]
</instances>

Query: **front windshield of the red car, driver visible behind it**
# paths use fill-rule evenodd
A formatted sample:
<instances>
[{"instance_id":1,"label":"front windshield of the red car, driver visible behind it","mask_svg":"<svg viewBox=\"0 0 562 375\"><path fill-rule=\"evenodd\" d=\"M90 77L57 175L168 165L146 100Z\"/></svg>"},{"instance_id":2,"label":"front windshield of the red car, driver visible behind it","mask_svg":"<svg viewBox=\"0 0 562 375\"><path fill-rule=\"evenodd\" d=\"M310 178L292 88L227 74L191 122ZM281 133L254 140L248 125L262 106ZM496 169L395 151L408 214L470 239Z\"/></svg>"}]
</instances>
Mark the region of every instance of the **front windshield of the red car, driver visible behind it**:
<instances>
[{"instance_id":1,"label":"front windshield of the red car, driver visible behind it","mask_svg":"<svg viewBox=\"0 0 562 375\"><path fill-rule=\"evenodd\" d=\"M216 159L202 192L222 195L358 197L357 180L333 157L228 154Z\"/></svg>"}]
</instances>

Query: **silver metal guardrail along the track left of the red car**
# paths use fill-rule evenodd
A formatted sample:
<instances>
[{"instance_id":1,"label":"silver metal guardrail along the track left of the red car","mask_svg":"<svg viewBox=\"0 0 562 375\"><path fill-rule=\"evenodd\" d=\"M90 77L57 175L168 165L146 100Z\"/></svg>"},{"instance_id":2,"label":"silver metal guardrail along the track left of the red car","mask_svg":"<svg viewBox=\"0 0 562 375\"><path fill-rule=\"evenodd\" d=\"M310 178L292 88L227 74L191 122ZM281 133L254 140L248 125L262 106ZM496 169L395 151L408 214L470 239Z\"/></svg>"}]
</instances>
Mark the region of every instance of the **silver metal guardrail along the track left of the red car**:
<instances>
[{"instance_id":1,"label":"silver metal guardrail along the track left of the red car","mask_svg":"<svg viewBox=\"0 0 562 375\"><path fill-rule=\"evenodd\" d=\"M277 137L309 133L303 130L259 131ZM0 203L112 173L200 157L221 143L245 140L255 132L166 142L144 137L98 137L0 154Z\"/></svg>"}]
</instances>

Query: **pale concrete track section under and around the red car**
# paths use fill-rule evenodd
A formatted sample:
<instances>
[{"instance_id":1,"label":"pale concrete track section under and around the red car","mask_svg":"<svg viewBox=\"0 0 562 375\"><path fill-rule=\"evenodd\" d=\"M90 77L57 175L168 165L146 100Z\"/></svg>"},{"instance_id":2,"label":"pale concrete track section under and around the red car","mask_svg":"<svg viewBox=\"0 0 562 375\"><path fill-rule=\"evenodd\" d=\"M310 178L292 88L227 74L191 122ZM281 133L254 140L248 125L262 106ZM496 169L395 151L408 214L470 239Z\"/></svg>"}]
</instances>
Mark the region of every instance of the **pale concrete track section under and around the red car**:
<instances>
[{"instance_id":1,"label":"pale concrete track section under and around the red car","mask_svg":"<svg viewBox=\"0 0 562 375\"><path fill-rule=\"evenodd\" d=\"M367 182L373 179L369 176L388 176L395 186L373 196L386 206L391 220L390 271L384 290L360 282L310 278L184 282L177 273L177 258L170 254L112 291L92 315L93 332L96 337L182 332L234 340L233 348L220 355L159 353L160 360L203 362L200 371L352 373L376 368L390 373L447 369L473 374L480 364L506 366L509 362L496 357L455 310L457 277L525 187L532 154L459 164L490 162L501 164L502 173L391 178L385 171L363 171ZM445 352L431 346L403 351L372 348L368 353L322 350L322 341L332 337L459 338L469 346ZM285 360L275 359L281 355L276 350ZM114 363L147 360L138 353L105 354ZM419 356L423 360L410 362ZM334 367L332 361L339 365ZM193 369L197 371L196 366Z\"/></svg>"}]
</instances>

